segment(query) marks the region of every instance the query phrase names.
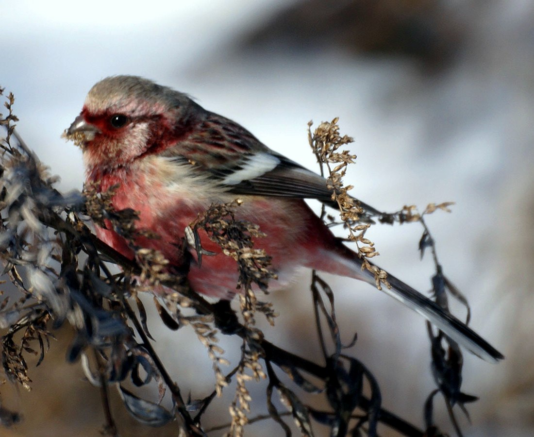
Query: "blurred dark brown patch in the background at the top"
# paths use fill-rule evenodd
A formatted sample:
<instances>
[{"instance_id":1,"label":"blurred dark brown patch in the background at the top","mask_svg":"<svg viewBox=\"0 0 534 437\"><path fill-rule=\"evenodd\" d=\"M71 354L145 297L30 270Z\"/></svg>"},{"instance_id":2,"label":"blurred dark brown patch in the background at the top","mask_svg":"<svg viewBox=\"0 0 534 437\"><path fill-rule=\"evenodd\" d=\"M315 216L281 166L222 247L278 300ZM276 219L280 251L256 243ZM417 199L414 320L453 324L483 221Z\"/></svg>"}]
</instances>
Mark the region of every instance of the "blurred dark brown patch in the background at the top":
<instances>
[{"instance_id":1,"label":"blurred dark brown patch in the background at the top","mask_svg":"<svg viewBox=\"0 0 534 437\"><path fill-rule=\"evenodd\" d=\"M313 49L334 44L358 54L411 57L423 67L446 67L465 26L438 0L302 0L245 38L249 48L280 44Z\"/></svg>"}]
</instances>

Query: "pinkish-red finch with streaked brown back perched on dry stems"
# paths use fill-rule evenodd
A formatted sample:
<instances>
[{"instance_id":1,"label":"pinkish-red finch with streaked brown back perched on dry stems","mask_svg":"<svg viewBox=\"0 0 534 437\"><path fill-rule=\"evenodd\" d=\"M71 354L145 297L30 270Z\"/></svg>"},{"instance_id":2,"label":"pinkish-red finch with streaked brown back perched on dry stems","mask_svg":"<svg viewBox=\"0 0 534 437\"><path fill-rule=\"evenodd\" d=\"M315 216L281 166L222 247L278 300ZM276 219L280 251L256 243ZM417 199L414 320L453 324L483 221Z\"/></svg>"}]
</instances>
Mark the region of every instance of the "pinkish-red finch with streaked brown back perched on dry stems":
<instances>
[{"instance_id":1,"label":"pinkish-red finch with streaked brown back perched on dry stems","mask_svg":"<svg viewBox=\"0 0 534 437\"><path fill-rule=\"evenodd\" d=\"M332 204L324 177L264 145L240 124L205 110L189 95L131 75L109 76L90 89L80 115L66 130L81 132L85 183L114 188L112 206L138 213L136 228L159 238L136 245L156 249L170 267L184 263L186 228L210 205L239 198L235 219L259 225L254 247L272 257L278 279L269 290L287 288L301 267L363 280L362 258L339 238L304 199ZM369 207L370 208L370 207ZM97 237L124 256L131 245L112 227ZM201 247L213 256L191 262L187 279L195 292L232 299L238 282L234 259L206 234ZM191 248L191 252L193 249ZM396 300L425 317L449 338L489 362L504 358L465 323L433 300L387 273Z\"/></svg>"}]
</instances>

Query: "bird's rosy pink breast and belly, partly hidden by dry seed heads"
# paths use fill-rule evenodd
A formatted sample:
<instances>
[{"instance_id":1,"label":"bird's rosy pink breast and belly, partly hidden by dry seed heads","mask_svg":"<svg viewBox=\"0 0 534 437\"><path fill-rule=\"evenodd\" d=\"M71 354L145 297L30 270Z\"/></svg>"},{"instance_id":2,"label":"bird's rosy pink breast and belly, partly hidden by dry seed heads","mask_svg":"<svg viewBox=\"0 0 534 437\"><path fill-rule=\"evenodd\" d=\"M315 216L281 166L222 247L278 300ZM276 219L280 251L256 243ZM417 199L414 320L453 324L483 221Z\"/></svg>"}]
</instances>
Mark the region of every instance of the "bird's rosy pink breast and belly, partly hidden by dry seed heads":
<instances>
[{"instance_id":1,"label":"bird's rosy pink breast and belly, partly hidden by dry seed heads","mask_svg":"<svg viewBox=\"0 0 534 437\"><path fill-rule=\"evenodd\" d=\"M181 196L148 174L139 174L137 178L116 174L103 177L101 186L105 189L117 182L120 188L113 198L115 209L136 210L139 213L138 228L155 232L160 237L139 238L136 244L157 249L170 261L171 266L182 267L185 228L206 211L211 204L210 199ZM320 268L321 262L327 267L329 260L320 258L325 251L318 252L318 248L333 247L333 236L304 201L254 196L241 198L244 203L236 207L235 217L259 225L266 234L266 237L255 239L254 244L272 256L273 269L279 276L278 280L271 280L270 290L287 285L297 267ZM97 236L123 255L133 256L125 240L114 231L99 228ZM200 232L200 237L202 248L216 255L203 256L200 267L192 261L189 281L199 293L229 298L236 291L237 263L224 255L206 232ZM194 254L195 251L190 248L190 252Z\"/></svg>"}]
</instances>

